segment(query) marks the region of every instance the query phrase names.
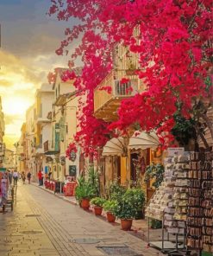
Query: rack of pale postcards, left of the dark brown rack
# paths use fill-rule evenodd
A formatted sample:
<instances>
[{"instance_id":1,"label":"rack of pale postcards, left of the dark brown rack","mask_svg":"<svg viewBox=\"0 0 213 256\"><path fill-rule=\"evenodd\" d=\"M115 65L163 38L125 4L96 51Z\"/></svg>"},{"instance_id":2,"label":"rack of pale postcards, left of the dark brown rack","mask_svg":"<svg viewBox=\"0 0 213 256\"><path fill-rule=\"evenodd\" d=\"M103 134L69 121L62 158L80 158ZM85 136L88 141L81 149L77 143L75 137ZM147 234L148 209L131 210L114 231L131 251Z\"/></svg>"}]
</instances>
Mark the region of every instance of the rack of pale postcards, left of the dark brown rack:
<instances>
[{"instance_id":1,"label":"rack of pale postcards, left of the dark brown rack","mask_svg":"<svg viewBox=\"0 0 213 256\"><path fill-rule=\"evenodd\" d=\"M179 253L185 249L187 205L185 187L188 186L188 168L187 156L166 157L164 180L146 209L148 223L150 218L162 221L160 241L150 241L148 225L148 244L159 248L163 253Z\"/></svg>"}]
</instances>

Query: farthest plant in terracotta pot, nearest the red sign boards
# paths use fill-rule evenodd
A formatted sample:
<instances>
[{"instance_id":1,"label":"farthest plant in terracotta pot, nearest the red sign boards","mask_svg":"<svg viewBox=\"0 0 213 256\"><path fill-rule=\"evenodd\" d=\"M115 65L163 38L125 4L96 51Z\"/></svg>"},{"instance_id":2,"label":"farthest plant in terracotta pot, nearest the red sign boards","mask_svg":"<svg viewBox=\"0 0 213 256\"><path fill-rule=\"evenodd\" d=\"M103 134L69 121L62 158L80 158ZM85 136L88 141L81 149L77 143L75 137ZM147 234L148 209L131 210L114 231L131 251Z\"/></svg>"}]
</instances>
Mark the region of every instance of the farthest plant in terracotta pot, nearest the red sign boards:
<instances>
[{"instance_id":1,"label":"farthest plant in terracotta pot, nearest the red sign boards","mask_svg":"<svg viewBox=\"0 0 213 256\"><path fill-rule=\"evenodd\" d=\"M75 189L75 196L80 206L84 210L88 210L90 208L90 200L94 196L94 189L91 188L91 184L88 182L78 183Z\"/></svg>"}]
</instances>

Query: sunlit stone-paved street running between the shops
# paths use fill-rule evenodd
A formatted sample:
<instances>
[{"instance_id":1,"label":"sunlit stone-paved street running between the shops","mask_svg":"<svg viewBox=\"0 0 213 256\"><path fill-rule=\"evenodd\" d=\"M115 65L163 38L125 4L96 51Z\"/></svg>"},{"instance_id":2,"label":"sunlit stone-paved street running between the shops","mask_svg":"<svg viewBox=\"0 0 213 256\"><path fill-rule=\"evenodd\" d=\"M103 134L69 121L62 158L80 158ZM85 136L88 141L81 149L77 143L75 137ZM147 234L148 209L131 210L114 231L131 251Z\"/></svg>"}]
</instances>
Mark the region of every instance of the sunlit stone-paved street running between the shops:
<instances>
[{"instance_id":1,"label":"sunlit stone-paved street running between the shops","mask_svg":"<svg viewBox=\"0 0 213 256\"><path fill-rule=\"evenodd\" d=\"M33 185L19 185L14 212L0 214L0 256L101 256L116 255L115 249L125 256L163 255L118 224Z\"/></svg>"}]
</instances>

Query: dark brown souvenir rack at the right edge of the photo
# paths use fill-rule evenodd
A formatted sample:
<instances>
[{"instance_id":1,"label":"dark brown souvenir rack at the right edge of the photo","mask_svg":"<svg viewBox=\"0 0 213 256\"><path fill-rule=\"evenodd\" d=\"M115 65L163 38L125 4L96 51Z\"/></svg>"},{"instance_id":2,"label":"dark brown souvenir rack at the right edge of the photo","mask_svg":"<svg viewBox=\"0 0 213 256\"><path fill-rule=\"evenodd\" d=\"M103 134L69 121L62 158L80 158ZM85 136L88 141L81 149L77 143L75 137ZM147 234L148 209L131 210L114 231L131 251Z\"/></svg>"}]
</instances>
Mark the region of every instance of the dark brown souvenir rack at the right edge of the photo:
<instances>
[{"instance_id":1,"label":"dark brown souvenir rack at the right edge of the photo","mask_svg":"<svg viewBox=\"0 0 213 256\"><path fill-rule=\"evenodd\" d=\"M187 246L213 253L213 151L191 152Z\"/></svg>"}]
</instances>

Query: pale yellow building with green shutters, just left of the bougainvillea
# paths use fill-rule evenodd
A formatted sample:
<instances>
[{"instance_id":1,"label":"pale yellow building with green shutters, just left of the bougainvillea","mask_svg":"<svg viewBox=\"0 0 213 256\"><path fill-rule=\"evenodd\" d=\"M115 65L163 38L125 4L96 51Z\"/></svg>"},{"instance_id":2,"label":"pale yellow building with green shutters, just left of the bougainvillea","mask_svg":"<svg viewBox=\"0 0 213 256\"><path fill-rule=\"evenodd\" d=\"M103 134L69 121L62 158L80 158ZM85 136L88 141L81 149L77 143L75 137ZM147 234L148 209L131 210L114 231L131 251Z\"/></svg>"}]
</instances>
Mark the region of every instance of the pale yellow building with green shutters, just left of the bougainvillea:
<instances>
[{"instance_id":1,"label":"pale yellow building with green shutters, just left of the bougainvillea","mask_svg":"<svg viewBox=\"0 0 213 256\"><path fill-rule=\"evenodd\" d=\"M82 68L76 67L73 71L81 73ZM66 176L79 175L79 152L70 160L66 157L66 149L74 140L78 127L78 97L74 80L61 80L61 74L66 71L58 68L53 83L53 108L49 113L51 120L51 138L44 140L45 154L47 155L47 170L52 171L54 180L64 182Z\"/></svg>"}]
</instances>

